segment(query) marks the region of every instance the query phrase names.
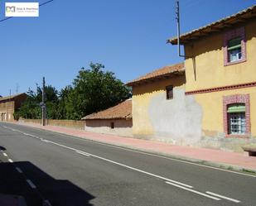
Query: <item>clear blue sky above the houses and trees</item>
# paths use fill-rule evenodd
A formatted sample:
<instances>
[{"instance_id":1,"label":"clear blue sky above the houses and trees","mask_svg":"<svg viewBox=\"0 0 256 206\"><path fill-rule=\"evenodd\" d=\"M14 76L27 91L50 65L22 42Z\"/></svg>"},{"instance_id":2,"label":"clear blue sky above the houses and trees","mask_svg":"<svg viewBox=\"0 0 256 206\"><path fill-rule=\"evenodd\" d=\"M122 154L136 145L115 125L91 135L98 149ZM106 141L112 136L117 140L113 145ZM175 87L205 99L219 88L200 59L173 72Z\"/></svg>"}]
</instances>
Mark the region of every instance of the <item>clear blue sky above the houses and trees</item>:
<instances>
[{"instance_id":1,"label":"clear blue sky above the houses and trees","mask_svg":"<svg viewBox=\"0 0 256 206\"><path fill-rule=\"evenodd\" d=\"M0 1L0 18L4 18ZM40 0L46 2L46 0ZM255 0L181 0L181 32L239 12ZM101 63L124 83L172 65L176 46L174 0L54 0L40 17L0 22L0 95L27 92L41 84L56 89L72 84L81 67Z\"/></svg>"}]
</instances>

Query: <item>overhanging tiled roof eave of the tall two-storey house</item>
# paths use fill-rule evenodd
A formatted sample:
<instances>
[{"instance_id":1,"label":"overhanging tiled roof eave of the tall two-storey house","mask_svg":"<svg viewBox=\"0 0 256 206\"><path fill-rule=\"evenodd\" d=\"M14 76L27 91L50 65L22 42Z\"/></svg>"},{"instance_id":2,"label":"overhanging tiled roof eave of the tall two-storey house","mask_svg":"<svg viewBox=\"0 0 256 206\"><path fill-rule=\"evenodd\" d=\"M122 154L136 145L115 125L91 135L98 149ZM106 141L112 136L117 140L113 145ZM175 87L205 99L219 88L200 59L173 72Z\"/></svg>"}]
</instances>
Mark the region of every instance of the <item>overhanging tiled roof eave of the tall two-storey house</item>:
<instances>
[{"instance_id":1,"label":"overhanging tiled roof eave of the tall two-storey house","mask_svg":"<svg viewBox=\"0 0 256 206\"><path fill-rule=\"evenodd\" d=\"M229 17L225 17L220 19L217 22L212 22L206 26L202 26L193 31L187 32L180 36L181 44L185 44L191 40L196 40L200 38L200 36L207 36L210 33L221 31L227 27L238 24L240 22L246 22L248 19L256 17L256 5L246 8L241 12L235 13ZM172 45L177 44L177 37L171 38L167 40L167 43L171 43Z\"/></svg>"}]
</instances>

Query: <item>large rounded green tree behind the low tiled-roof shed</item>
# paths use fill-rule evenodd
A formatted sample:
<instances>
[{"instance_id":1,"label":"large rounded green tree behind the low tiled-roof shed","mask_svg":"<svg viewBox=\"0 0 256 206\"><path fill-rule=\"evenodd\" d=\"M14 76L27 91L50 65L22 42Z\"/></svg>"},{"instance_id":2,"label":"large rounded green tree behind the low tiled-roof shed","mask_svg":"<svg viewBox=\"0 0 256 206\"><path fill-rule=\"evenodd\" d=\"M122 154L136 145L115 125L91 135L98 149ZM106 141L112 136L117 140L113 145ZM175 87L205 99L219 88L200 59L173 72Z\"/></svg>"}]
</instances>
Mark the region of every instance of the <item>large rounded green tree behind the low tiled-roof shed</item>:
<instances>
[{"instance_id":1,"label":"large rounded green tree behind the low tiled-roof shed","mask_svg":"<svg viewBox=\"0 0 256 206\"><path fill-rule=\"evenodd\" d=\"M72 119L99 112L131 97L131 90L116 79L113 72L102 70L104 65L91 63L89 67L80 69L67 98L67 117Z\"/></svg>"}]
</instances>

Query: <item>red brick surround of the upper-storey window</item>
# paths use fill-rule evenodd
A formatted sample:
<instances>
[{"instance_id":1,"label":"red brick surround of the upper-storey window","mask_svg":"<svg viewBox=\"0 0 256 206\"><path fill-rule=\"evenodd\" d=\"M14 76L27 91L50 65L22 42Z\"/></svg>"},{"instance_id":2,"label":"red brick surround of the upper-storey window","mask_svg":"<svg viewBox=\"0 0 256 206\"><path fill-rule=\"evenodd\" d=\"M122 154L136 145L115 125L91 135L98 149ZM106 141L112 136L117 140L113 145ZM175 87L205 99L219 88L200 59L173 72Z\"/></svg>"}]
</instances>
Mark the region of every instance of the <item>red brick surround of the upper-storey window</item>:
<instances>
[{"instance_id":1,"label":"red brick surround of the upper-storey window","mask_svg":"<svg viewBox=\"0 0 256 206\"><path fill-rule=\"evenodd\" d=\"M229 62L228 42L229 40L239 36L242 38L242 41L241 41L242 59L234 62ZM244 27L240 27L238 29L226 32L224 35L223 48L224 48L224 65L225 66L234 65L234 64L238 64L246 61L246 39L245 39Z\"/></svg>"}]
</instances>

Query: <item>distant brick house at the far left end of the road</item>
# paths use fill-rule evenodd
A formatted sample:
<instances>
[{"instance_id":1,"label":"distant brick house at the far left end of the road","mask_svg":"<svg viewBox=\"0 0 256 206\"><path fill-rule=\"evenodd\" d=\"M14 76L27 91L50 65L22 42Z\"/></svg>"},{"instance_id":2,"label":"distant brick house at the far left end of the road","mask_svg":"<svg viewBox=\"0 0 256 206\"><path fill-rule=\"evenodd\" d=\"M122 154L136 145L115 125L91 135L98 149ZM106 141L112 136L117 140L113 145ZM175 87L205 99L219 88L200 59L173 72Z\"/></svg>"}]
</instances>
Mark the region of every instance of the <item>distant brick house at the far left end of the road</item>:
<instances>
[{"instance_id":1,"label":"distant brick house at the far left end of the road","mask_svg":"<svg viewBox=\"0 0 256 206\"><path fill-rule=\"evenodd\" d=\"M0 121L14 121L13 113L21 107L22 102L27 98L26 93L19 93L12 96L0 98Z\"/></svg>"}]
</instances>

